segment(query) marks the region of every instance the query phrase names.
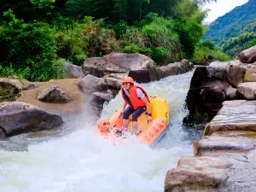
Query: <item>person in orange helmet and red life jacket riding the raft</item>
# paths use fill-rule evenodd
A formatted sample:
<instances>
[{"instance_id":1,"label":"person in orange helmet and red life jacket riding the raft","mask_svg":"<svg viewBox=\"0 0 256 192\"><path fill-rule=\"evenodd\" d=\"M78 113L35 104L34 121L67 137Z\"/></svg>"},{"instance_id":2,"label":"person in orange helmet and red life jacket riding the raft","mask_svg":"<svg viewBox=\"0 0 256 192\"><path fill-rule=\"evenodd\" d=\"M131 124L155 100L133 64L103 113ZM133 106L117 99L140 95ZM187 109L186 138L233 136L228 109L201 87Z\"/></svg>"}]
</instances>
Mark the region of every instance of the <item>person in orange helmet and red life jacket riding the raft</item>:
<instances>
[{"instance_id":1,"label":"person in orange helmet and red life jacket riding the raft","mask_svg":"<svg viewBox=\"0 0 256 192\"><path fill-rule=\"evenodd\" d=\"M148 122L152 120L148 94L142 87L135 85L131 77L123 80L121 94L125 100L123 106L123 125L128 128L129 116L132 113L132 133L139 133L137 130L137 118L147 110ZM128 105L128 106L127 106ZM127 108L126 108L127 107Z\"/></svg>"}]
</instances>

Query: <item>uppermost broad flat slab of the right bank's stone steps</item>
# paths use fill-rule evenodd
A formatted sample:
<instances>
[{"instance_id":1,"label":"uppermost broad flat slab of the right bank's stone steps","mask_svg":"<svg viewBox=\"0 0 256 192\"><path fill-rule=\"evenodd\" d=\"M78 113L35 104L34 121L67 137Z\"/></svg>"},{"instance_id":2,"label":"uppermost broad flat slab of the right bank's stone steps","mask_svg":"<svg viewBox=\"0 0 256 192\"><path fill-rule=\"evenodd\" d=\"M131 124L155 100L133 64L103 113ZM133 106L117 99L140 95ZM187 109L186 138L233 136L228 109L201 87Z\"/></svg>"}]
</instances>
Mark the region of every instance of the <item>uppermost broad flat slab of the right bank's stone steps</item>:
<instances>
[{"instance_id":1,"label":"uppermost broad flat slab of the right bank's stone steps","mask_svg":"<svg viewBox=\"0 0 256 192\"><path fill-rule=\"evenodd\" d=\"M229 101L206 125L204 135L215 131L256 131L256 101Z\"/></svg>"}]
</instances>

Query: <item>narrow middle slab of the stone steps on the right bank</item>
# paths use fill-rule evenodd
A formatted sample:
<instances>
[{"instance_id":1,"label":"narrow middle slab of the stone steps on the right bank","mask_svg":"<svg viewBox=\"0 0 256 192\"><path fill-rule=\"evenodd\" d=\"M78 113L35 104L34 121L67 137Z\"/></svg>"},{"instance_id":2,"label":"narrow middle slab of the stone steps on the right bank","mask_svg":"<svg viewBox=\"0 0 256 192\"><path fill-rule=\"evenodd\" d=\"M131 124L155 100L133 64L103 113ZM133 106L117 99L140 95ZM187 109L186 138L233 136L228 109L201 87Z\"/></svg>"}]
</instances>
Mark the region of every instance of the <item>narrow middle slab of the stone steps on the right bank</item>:
<instances>
[{"instance_id":1,"label":"narrow middle slab of the stone steps on the right bank","mask_svg":"<svg viewBox=\"0 0 256 192\"><path fill-rule=\"evenodd\" d=\"M206 136L194 143L195 155L204 151L248 152L253 150L256 140L248 137Z\"/></svg>"}]
</instances>

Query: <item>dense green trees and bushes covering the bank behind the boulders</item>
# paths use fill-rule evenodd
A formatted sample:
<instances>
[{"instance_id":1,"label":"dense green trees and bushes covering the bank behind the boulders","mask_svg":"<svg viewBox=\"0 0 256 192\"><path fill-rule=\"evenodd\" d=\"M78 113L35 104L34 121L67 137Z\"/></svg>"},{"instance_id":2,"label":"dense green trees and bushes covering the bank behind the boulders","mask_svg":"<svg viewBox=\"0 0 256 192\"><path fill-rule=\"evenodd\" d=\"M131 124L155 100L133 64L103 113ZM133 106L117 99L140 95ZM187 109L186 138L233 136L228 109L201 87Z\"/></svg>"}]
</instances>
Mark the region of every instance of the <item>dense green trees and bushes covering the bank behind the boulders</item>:
<instances>
[{"instance_id":1,"label":"dense green trees and bushes covering the bank behind the boulders","mask_svg":"<svg viewBox=\"0 0 256 192\"><path fill-rule=\"evenodd\" d=\"M157 65L209 54L227 56L212 42L200 9L212 0L2 0L0 76L61 79L63 61L82 65L113 51L142 53Z\"/></svg>"}]
</instances>

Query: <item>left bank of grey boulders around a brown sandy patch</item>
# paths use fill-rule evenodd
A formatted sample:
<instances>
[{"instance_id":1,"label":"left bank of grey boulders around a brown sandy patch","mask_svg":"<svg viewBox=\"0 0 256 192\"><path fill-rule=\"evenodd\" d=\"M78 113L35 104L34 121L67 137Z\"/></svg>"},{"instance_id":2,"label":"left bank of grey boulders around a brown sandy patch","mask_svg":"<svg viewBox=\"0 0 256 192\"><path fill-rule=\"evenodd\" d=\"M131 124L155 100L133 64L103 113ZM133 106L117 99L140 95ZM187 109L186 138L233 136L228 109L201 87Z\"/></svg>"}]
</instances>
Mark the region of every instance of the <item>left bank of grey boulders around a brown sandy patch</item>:
<instances>
[{"instance_id":1,"label":"left bank of grey boulders around a brown sandy patch","mask_svg":"<svg viewBox=\"0 0 256 192\"><path fill-rule=\"evenodd\" d=\"M59 112L86 110L98 116L103 103L119 93L126 76L137 83L147 83L186 73L193 67L187 60L156 67L146 55L114 52L91 57L82 67L67 62L63 66L67 79L34 83L15 76L0 79L0 99L1 96L20 96L15 102L0 104L0 137L61 125L63 120Z\"/></svg>"}]
</instances>

